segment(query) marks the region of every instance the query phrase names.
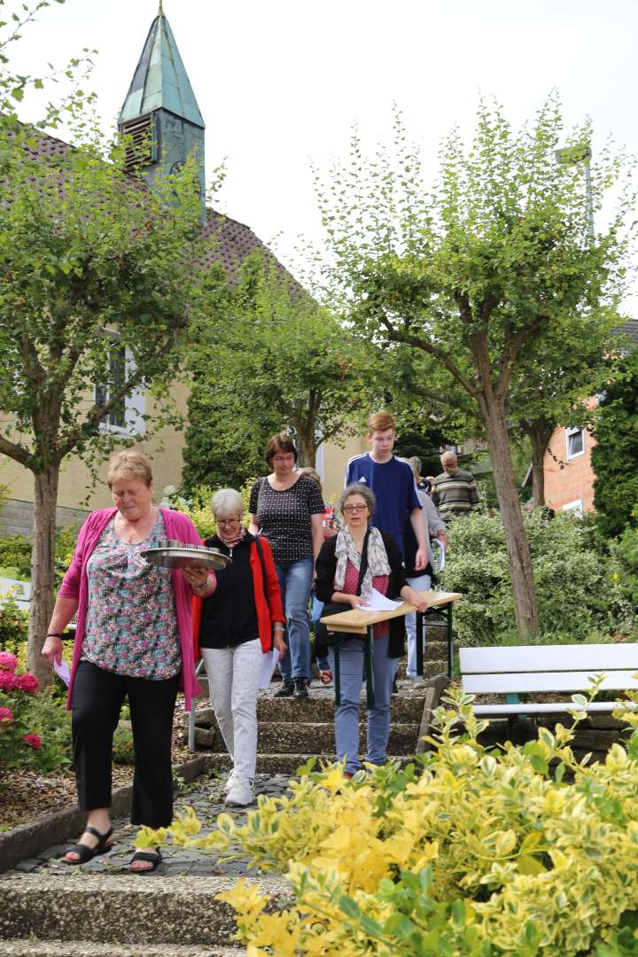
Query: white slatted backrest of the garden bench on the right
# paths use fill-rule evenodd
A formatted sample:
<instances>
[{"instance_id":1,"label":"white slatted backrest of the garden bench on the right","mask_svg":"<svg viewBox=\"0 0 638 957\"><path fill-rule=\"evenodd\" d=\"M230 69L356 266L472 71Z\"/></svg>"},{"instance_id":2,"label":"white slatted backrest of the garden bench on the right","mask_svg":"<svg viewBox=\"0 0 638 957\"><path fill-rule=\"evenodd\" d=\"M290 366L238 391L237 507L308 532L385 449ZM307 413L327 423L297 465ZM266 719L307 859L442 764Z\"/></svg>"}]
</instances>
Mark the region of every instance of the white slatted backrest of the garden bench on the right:
<instances>
[{"instance_id":1,"label":"white slatted backrest of the garden bench on the right","mask_svg":"<svg viewBox=\"0 0 638 957\"><path fill-rule=\"evenodd\" d=\"M461 648L463 689L470 694L638 688L638 644L519 645Z\"/></svg>"}]
</instances>

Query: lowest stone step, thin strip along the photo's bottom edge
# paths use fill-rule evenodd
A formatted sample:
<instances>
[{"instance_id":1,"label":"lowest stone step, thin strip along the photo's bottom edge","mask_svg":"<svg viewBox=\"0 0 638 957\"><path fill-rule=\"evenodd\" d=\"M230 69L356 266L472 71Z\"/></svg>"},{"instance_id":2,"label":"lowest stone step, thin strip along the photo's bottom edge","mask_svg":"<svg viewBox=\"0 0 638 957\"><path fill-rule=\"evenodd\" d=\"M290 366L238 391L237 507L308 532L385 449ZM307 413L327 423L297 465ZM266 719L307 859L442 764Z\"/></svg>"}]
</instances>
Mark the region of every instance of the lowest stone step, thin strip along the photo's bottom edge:
<instances>
[{"instance_id":1,"label":"lowest stone step, thin strip along the photo's bottom edge","mask_svg":"<svg viewBox=\"0 0 638 957\"><path fill-rule=\"evenodd\" d=\"M245 947L100 944L95 941L3 941L3 957L245 957Z\"/></svg>"}]
</instances>

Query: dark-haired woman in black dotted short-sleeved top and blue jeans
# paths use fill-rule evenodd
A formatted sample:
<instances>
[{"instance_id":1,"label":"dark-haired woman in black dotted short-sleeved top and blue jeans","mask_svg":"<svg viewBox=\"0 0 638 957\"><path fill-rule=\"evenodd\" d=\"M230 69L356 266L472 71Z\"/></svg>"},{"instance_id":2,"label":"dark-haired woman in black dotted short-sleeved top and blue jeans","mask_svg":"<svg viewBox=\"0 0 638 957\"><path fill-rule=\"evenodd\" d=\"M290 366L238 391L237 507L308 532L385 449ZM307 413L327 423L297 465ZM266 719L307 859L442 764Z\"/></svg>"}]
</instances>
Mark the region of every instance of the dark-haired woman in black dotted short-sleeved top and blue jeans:
<instances>
[{"instance_id":1,"label":"dark-haired woman in black dotted short-sleeved top and blue jeans","mask_svg":"<svg viewBox=\"0 0 638 957\"><path fill-rule=\"evenodd\" d=\"M273 435L265 457L273 471L253 484L248 530L263 534L273 549L286 613L289 650L281 661L283 681L276 694L303 699L311 678L308 599L323 544L325 506L317 482L295 470L297 448L290 435Z\"/></svg>"}]
</instances>

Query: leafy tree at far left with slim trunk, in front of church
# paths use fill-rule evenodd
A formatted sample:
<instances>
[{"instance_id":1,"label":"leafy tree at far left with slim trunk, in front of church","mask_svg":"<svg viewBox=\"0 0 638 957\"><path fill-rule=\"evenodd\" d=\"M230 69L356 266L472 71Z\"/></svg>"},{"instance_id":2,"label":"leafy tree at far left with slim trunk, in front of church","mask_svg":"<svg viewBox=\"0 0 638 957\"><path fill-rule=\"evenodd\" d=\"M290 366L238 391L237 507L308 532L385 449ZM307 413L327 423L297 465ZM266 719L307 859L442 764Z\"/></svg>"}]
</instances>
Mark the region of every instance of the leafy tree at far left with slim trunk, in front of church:
<instances>
[{"instance_id":1,"label":"leafy tree at far left with slim trunk, in front of church","mask_svg":"<svg viewBox=\"0 0 638 957\"><path fill-rule=\"evenodd\" d=\"M19 100L26 82L3 55L0 90ZM43 680L61 464L121 444L104 426L134 391L162 407L202 282L191 170L150 191L122 145L97 138L91 98L76 91L65 109L74 148L0 115L0 453L33 475L29 667Z\"/></svg>"}]
</instances>

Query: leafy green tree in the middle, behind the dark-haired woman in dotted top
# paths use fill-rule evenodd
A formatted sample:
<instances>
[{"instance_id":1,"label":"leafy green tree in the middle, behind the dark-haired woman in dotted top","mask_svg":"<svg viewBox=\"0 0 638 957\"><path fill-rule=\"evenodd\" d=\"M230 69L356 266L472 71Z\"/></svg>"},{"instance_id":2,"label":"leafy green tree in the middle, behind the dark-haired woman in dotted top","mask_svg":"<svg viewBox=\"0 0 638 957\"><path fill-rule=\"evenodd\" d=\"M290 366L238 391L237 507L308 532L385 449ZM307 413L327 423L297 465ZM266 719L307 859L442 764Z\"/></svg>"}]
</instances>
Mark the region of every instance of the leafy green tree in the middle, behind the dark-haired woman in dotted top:
<instances>
[{"instance_id":1,"label":"leafy green tree in the middle, behind the dark-haired woman in dotted top","mask_svg":"<svg viewBox=\"0 0 638 957\"><path fill-rule=\"evenodd\" d=\"M191 340L187 485L259 474L281 429L296 435L301 465L315 464L321 441L358 431L361 347L259 252Z\"/></svg>"}]
</instances>

